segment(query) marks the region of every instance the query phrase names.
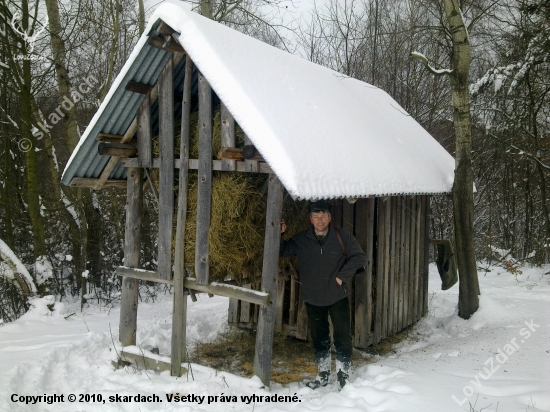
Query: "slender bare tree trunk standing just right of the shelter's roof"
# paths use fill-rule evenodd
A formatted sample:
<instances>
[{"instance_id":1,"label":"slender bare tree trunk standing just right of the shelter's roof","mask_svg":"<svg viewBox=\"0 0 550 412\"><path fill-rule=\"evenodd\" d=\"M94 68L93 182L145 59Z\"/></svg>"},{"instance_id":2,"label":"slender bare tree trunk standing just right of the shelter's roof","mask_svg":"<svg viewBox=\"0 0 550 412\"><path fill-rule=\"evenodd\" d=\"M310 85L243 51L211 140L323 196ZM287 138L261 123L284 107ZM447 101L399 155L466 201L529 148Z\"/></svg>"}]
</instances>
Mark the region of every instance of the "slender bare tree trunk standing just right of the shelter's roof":
<instances>
[{"instance_id":1,"label":"slender bare tree trunk standing just right of the shelter's roof","mask_svg":"<svg viewBox=\"0 0 550 412\"><path fill-rule=\"evenodd\" d=\"M447 23L452 35L451 95L456 134L453 210L455 244L460 285L458 314L468 319L479 308L479 282L474 253L474 174L472 170L472 131L470 119L470 43L457 0L444 0Z\"/></svg>"}]
</instances>

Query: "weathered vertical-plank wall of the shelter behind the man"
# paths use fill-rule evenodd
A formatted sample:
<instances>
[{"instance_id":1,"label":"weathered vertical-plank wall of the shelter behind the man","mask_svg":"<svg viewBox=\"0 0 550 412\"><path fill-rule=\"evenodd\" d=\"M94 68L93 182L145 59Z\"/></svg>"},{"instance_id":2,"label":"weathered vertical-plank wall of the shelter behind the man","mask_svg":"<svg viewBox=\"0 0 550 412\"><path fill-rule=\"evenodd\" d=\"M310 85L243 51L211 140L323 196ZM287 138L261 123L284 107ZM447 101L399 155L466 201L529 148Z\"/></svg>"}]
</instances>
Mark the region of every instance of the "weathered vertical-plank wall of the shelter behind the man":
<instances>
[{"instance_id":1,"label":"weathered vertical-plank wall of the shelter behind the man","mask_svg":"<svg viewBox=\"0 0 550 412\"><path fill-rule=\"evenodd\" d=\"M420 195L359 199L354 204L343 200L333 206L333 223L353 230L367 256L366 271L355 277L353 286L355 347L376 344L427 313L428 213L429 197ZM286 297L276 307L277 325L282 324L288 335L306 340L308 319L299 299L300 283L289 276L289 281L279 284L279 291L285 285ZM247 302L232 300L229 312L230 324L255 327Z\"/></svg>"}]
</instances>

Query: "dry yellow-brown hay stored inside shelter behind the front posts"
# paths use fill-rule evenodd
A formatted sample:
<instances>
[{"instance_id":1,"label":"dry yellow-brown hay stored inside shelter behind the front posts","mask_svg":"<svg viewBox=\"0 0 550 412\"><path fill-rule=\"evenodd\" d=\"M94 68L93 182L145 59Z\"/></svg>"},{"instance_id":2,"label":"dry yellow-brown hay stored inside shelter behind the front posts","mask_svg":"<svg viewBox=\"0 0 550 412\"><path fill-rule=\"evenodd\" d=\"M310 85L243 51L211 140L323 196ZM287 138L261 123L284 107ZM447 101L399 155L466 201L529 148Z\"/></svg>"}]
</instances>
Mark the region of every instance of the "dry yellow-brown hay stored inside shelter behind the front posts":
<instances>
[{"instance_id":1,"label":"dry yellow-brown hay stored inside shelter behind the front posts","mask_svg":"<svg viewBox=\"0 0 550 412\"><path fill-rule=\"evenodd\" d=\"M175 156L179 157L180 125L175 124ZM189 157L198 157L198 114L190 119ZM236 127L237 146L244 144L244 133ZM221 145L220 111L215 110L212 124L212 156ZM153 141L158 156L158 136ZM153 177L158 185L158 169ZM255 288L261 277L267 202L267 175L238 172L214 172L212 178L212 214L209 231L209 279L233 280L238 285L251 283ZM177 199L178 184L174 187ZM177 203L177 202L175 202ZM283 204L287 234L292 236L308 227L307 203L294 202L288 195ZM177 204L174 205L174 229ZM197 172L190 171L187 193L184 262L188 273L194 273L197 220ZM174 230L175 232L175 230ZM175 248L175 233L172 247Z\"/></svg>"}]
</instances>

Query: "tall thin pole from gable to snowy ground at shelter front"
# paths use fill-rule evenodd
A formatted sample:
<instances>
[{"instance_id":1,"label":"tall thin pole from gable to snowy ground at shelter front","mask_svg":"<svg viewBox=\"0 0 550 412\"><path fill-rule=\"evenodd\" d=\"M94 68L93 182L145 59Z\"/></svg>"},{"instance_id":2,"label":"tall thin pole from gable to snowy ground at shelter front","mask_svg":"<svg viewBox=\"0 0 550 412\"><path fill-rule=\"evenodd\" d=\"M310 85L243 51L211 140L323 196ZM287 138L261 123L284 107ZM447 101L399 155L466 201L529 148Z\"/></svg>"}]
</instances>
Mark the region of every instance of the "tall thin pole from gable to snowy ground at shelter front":
<instances>
[{"instance_id":1,"label":"tall thin pole from gable to snowy ground at shelter front","mask_svg":"<svg viewBox=\"0 0 550 412\"><path fill-rule=\"evenodd\" d=\"M191 87L193 62L185 57L185 78L181 108L180 169L178 187L178 213L176 224L176 251L174 257L174 303L172 311L172 348L170 373L181 376L181 362L187 360L186 322L187 294L184 293L185 262L183 259L185 223L187 220L187 185L189 181L189 118L191 114Z\"/></svg>"}]
</instances>

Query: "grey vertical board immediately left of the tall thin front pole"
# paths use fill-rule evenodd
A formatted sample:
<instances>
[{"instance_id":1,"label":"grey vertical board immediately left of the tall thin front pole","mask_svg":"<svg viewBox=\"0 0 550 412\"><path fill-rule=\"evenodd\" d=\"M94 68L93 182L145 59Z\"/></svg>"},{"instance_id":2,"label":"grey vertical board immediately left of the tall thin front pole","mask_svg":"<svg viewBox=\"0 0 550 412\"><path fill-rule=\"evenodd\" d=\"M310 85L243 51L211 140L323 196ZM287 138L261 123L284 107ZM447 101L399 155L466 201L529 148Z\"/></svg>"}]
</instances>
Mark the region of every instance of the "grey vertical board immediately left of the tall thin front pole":
<instances>
[{"instance_id":1,"label":"grey vertical board immediately left of the tall thin front pole","mask_svg":"<svg viewBox=\"0 0 550 412\"><path fill-rule=\"evenodd\" d=\"M172 278L172 226L174 224L174 79L172 58L159 77L159 235L158 273Z\"/></svg>"}]
</instances>

